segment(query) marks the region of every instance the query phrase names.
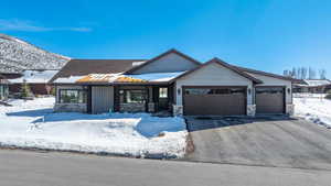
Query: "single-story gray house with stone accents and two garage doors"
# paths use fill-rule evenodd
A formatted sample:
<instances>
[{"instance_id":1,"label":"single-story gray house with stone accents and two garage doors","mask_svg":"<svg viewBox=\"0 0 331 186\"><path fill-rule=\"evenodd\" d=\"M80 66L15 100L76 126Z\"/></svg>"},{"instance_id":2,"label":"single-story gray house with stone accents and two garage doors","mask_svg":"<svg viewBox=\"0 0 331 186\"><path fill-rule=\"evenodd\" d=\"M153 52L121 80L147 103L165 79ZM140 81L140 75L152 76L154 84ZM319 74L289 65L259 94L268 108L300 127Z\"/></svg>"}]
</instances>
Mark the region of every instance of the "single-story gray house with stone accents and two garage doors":
<instances>
[{"instance_id":1,"label":"single-story gray house with stone accents and two garage doors","mask_svg":"<svg viewBox=\"0 0 331 186\"><path fill-rule=\"evenodd\" d=\"M174 116L291 114L295 81L218 58L202 64L175 50L147 61L72 59L51 79L55 111Z\"/></svg>"}]
</instances>

